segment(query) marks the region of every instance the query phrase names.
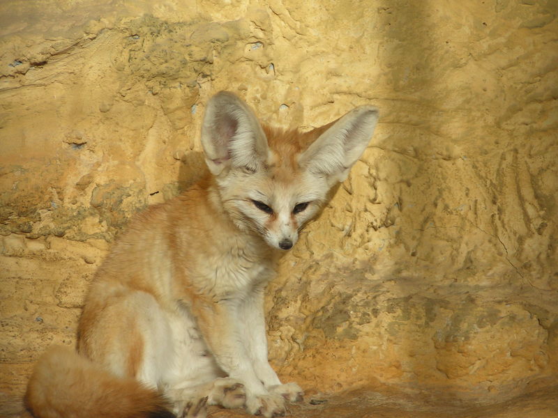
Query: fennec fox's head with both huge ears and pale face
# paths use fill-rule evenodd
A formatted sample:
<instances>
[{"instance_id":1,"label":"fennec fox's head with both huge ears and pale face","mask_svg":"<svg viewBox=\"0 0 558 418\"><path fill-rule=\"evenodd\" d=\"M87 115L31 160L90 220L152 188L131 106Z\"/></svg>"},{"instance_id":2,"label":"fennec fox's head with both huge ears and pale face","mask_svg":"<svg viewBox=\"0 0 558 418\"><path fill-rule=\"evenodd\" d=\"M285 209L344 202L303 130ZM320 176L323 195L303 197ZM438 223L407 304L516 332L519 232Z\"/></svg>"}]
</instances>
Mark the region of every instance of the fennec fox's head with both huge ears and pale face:
<instances>
[{"instance_id":1,"label":"fennec fox's head with both huge ears and pale face","mask_svg":"<svg viewBox=\"0 0 558 418\"><path fill-rule=\"evenodd\" d=\"M347 178L372 137L378 109L356 107L310 132L263 127L236 95L222 91L206 105L202 146L220 202L242 231L290 249Z\"/></svg>"}]
</instances>

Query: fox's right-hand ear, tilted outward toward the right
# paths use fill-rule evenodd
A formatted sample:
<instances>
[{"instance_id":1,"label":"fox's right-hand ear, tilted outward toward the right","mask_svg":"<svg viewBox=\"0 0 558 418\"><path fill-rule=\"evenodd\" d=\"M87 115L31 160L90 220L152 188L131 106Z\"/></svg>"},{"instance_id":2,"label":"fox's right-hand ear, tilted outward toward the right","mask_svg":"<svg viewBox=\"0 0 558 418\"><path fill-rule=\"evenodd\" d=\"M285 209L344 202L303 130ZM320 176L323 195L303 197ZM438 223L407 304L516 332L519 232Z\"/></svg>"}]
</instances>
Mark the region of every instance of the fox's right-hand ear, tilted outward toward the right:
<instances>
[{"instance_id":1,"label":"fox's right-hand ear, tilted outward toward the right","mask_svg":"<svg viewBox=\"0 0 558 418\"><path fill-rule=\"evenodd\" d=\"M299 165L329 179L343 181L364 152L378 121L374 106L356 107L323 132L299 158ZM318 128L319 129L319 128Z\"/></svg>"}]
</instances>

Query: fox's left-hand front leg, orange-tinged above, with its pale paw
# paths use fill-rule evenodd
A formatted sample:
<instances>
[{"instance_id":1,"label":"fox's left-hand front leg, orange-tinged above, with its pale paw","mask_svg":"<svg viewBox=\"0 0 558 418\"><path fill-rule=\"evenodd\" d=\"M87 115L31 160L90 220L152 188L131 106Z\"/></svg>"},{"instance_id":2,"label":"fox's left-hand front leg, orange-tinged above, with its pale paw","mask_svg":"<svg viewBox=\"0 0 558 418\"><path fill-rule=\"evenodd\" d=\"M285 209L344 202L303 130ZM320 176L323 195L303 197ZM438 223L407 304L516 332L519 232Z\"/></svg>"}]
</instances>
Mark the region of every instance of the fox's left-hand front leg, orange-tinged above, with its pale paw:
<instances>
[{"instance_id":1,"label":"fox's left-hand front leg, orange-tinged above, with its pale paw","mask_svg":"<svg viewBox=\"0 0 558 418\"><path fill-rule=\"evenodd\" d=\"M234 299L214 302L200 298L193 303L192 311L217 364L230 378L243 383L246 410L266 418L285 415L285 398L269 392L254 370L241 332L246 324L239 315L240 304Z\"/></svg>"}]
</instances>

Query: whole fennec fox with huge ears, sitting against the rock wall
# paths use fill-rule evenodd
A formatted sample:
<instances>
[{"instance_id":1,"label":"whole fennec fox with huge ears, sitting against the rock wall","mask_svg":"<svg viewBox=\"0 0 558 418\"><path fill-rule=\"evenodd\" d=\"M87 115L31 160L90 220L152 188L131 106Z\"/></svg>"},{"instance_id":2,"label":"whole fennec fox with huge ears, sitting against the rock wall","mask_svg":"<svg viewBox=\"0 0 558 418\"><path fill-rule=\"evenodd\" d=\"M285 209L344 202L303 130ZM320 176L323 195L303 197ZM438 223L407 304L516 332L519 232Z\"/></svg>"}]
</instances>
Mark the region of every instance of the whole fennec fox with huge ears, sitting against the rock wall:
<instances>
[{"instance_id":1,"label":"whole fennec fox with huge ears, sitting against the rock wall","mask_svg":"<svg viewBox=\"0 0 558 418\"><path fill-rule=\"evenodd\" d=\"M284 415L303 391L269 366L264 288L377 118L363 106L280 132L236 95L213 96L202 125L210 173L119 237L86 297L79 354L53 348L33 371L33 415L205 417L206 405Z\"/></svg>"}]
</instances>

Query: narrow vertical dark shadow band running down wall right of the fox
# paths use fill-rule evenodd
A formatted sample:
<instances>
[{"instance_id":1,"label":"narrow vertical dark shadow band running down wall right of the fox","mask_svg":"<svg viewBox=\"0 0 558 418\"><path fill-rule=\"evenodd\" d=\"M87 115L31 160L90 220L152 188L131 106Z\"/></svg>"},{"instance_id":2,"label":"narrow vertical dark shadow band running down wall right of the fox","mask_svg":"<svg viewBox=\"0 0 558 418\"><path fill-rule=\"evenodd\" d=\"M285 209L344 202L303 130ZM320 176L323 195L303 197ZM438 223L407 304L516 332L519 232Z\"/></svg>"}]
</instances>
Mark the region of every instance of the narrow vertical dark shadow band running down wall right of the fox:
<instances>
[{"instance_id":1,"label":"narrow vertical dark shadow band running down wall right of the fox","mask_svg":"<svg viewBox=\"0 0 558 418\"><path fill-rule=\"evenodd\" d=\"M451 141L435 134L438 132L436 124L439 123L438 111L435 109L443 108L444 103L431 102L432 91L439 80L436 68L432 68L435 63L432 62L434 52L430 45L435 42L431 35L436 28L434 22L430 21L430 12L428 2L410 2L405 8L396 5L395 8L379 10L379 25L386 28L387 35L383 42L382 55L386 60L393 60L381 65L393 68L392 78L389 80L392 93L396 97L410 95L412 100L422 104L414 106L409 104L408 100L390 102L389 112L394 115L390 122L398 124L398 132L404 135L404 138L395 138L394 145L397 148L399 141L400 144L412 144L413 153L407 155L407 159L412 160L410 164L416 166L418 176L430 179L428 183L415 182L415 179L412 179L407 183L408 187L399 189L398 203L401 213L394 222L398 224L399 233L412 238L395 238L407 249L410 257L405 261L393 260L393 263L395 266L398 263L414 263L417 271L410 272L409 268L395 267L393 277L383 278L392 281L395 287L385 289L391 293L391 297L380 309L383 308L388 314L393 315L384 332L387 334L387 343L393 344L395 356L399 357L395 364L399 363L401 374L395 385L408 385L412 389L418 389L425 401L439 396L439 392L437 395L428 394L428 387L436 387L440 383L448 389L445 394L447 398L458 396L456 392L459 392L457 388L452 387L444 372L436 369L436 360L433 358L437 356L435 335L442 331L436 328L440 325L440 318L436 317L446 316L444 320L449 321L448 315L452 308L451 302L444 300L445 295L435 296L432 293L436 292L428 290L432 288L435 277L444 275L444 272L441 271L442 263L435 264L432 253L425 254L427 249L435 249L441 244L435 242L435 234L424 232L425 229L436 227L436 206L442 198L437 180L443 178L446 185L452 180L434 161L425 160L428 150L435 153L435 150L444 148L440 142ZM421 51L423 54L418 56L406 53L413 51ZM408 211L411 206L423 208L423 224L416 224L420 216L410 219L404 215L405 210ZM430 277L421 277L421 273L425 272L421 268L424 268L425 264L430 264L432 268ZM460 392L462 389L461 387Z\"/></svg>"}]
</instances>

